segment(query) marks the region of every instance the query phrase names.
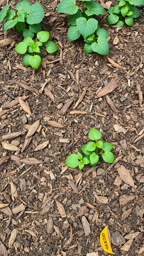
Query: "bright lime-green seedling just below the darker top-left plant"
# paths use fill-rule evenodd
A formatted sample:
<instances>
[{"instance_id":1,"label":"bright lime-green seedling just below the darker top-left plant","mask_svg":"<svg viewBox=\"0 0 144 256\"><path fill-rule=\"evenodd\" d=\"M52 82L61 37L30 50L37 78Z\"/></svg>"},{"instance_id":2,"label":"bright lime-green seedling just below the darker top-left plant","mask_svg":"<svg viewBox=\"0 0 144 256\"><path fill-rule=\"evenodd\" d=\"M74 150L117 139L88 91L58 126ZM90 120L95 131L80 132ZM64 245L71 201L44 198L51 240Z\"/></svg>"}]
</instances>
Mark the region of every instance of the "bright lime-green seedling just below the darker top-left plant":
<instances>
[{"instance_id":1,"label":"bright lime-green seedling just below the darker top-left plant","mask_svg":"<svg viewBox=\"0 0 144 256\"><path fill-rule=\"evenodd\" d=\"M26 51L30 54L25 54L23 56L23 64L25 66L31 66L32 68L37 69L40 65L41 58L38 53L46 50L48 53L53 53L58 50L58 46L52 42L48 41L49 32L40 31L37 33L37 39L39 41L34 41L31 37L24 37L23 42L20 42L16 45L15 50L19 54L25 54Z\"/></svg>"}]
</instances>

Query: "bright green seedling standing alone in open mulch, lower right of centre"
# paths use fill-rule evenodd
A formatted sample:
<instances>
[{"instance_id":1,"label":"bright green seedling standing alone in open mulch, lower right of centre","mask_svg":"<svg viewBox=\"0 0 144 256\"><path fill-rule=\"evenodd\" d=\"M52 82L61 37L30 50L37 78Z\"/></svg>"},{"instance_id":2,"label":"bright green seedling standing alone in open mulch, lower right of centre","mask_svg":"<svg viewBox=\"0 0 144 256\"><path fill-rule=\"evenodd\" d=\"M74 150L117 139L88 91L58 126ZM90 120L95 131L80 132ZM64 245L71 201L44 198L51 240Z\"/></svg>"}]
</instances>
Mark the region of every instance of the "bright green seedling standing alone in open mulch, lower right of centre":
<instances>
[{"instance_id":1,"label":"bright green seedling standing alone in open mulch, lower right of centre","mask_svg":"<svg viewBox=\"0 0 144 256\"><path fill-rule=\"evenodd\" d=\"M81 147L84 155L79 152L77 152L77 154L71 154L68 156L65 164L71 168L78 166L79 169L82 169L85 164L96 166L99 161L99 155L102 156L105 162L114 163L114 155L111 152L113 144L109 142L103 143L102 141L98 141L101 138L101 132L94 128L89 131L88 137L92 141Z\"/></svg>"}]
</instances>

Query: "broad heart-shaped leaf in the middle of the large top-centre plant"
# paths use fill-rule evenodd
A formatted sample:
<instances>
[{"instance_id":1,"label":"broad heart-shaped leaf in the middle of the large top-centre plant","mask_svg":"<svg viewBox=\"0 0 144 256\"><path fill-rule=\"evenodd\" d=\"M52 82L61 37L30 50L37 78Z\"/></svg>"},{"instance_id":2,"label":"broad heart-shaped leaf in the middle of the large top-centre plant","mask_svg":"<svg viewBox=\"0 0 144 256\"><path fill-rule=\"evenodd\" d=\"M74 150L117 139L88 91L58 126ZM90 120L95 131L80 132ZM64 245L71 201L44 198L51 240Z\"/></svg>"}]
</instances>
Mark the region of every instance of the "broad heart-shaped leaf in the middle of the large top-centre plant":
<instances>
[{"instance_id":1,"label":"broad heart-shaped leaf in the middle of the large top-centre plant","mask_svg":"<svg viewBox=\"0 0 144 256\"><path fill-rule=\"evenodd\" d=\"M77 28L83 37L87 37L90 34L93 34L97 29L98 21L94 18L90 18L88 21L86 18L81 17L76 20Z\"/></svg>"}]
</instances>

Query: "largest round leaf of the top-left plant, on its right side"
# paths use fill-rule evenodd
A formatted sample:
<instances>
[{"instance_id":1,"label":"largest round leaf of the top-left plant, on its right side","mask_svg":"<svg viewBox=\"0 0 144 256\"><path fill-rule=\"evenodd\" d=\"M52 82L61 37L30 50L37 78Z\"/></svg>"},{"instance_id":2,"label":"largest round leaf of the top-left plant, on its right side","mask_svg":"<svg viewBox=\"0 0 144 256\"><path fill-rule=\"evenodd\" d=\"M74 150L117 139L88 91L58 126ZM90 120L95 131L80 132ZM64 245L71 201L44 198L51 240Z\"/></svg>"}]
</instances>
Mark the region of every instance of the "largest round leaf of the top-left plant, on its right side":
<instances>
[{"instance_id":1,"label":"largest round leaf of the top-left plant, on its right side","mask_svg":"<svg viewBox=\"0 0 144 256\"><path fill-rule=\"evenodd\" d=\"M44 9L40 3L30 5L27 9L26 22L28 24L37 24L42 21L44 17Z\"/></svg>"}]
</instances>

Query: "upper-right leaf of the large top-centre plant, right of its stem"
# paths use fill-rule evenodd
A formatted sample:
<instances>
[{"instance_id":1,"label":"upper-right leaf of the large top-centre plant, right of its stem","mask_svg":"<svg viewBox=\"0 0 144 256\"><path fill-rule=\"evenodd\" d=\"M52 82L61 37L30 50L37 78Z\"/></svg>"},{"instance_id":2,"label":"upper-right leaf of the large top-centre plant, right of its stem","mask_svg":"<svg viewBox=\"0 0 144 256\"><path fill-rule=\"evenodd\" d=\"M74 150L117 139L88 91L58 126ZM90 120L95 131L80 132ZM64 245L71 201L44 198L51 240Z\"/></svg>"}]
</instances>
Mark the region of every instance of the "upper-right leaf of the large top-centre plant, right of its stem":
<instances>
[{"instance_id":1,"label":"upper-right leaf of the large top-centre plant, right of its stem","mask_svg":"<svg viewBox=\"0 0 144 256\"><path fill-rule=\"evenodd\" d=\"M85 11L86 15L90 16L93 14L99 15L99 14L105 14L104 7L94 1L85 2L85 6L87 10Z\"/></svg>"}]
</instances>

